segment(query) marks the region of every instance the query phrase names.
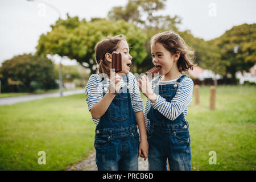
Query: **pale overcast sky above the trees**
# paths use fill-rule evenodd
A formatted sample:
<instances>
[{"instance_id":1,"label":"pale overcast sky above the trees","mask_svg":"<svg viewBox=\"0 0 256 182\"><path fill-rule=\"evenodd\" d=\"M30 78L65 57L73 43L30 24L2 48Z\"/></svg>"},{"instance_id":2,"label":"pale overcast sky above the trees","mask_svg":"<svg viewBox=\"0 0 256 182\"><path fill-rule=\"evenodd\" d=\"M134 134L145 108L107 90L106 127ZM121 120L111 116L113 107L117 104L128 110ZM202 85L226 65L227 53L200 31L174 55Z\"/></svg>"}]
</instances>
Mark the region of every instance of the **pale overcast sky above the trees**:
<instances>
[{"instance_id":1,"label":"pale overcast sky above the trees","mask_svg":"<svg viewBox=\"0 0 256 182\"><path fill-rule=\"evenodd\" d=\"M42 2L42 1L41 1ZM127 0L52 0L62 18L66 14L90 20L106 18L114 6L124 6ZM210 40L242 23L256 23L255 0L167 0L166 9L158 14L178 15L180 30L191 30L198 38ZM23 53L35 52L39 36L51 31L50 24L59 14L43 3L25 0L0 1L0 63ZM74 62L74 61L73 61ZM68 62L67 62L68 64Z\"/></svg>"}]
</instances>

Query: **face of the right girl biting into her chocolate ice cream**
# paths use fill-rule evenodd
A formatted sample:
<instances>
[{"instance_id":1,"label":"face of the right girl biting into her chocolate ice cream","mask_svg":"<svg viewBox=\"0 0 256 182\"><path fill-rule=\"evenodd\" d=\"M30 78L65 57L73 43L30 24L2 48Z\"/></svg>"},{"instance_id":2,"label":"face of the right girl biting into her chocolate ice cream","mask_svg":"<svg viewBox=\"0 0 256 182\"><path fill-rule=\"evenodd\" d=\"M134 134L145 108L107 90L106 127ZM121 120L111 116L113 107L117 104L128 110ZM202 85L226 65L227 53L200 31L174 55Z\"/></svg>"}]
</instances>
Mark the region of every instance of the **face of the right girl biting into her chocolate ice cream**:
<instances>
[{"instance_id":1,"label":"face of the right girl biting into her chocolate ice cream","mask_svg":"<svg viewBox=\"0 0 256 182\"><path fill-rule=\"evenodd\" d=\"M176 56L164 48L162 43L153 43L151 45L151 54L153 64L161 67L159 75L168 75L177 68Z\"/></svg>"}]
</instances>

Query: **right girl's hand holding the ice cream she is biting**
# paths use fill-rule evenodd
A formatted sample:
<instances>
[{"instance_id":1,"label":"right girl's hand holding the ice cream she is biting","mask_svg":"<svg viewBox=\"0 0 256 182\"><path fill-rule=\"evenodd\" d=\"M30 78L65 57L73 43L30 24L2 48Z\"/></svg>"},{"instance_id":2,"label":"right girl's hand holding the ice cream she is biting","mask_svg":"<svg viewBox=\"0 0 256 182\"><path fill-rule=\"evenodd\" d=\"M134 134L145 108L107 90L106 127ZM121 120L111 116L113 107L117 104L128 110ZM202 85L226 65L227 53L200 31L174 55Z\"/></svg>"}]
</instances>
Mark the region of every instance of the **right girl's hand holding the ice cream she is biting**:
<instances>
[{"instance_id":1,"label":"right girl's hand holding the ice cream she is biting","mask_svg":"<svg viewBox=\"0 0 256 182\"><path fill-rule=\"evenodd\" d=\"M150 81L146 75L139 78L138 86L144 96L146 96L149 100L155 99L155 93L153 92Z\"/></svg>"}]
</instances>

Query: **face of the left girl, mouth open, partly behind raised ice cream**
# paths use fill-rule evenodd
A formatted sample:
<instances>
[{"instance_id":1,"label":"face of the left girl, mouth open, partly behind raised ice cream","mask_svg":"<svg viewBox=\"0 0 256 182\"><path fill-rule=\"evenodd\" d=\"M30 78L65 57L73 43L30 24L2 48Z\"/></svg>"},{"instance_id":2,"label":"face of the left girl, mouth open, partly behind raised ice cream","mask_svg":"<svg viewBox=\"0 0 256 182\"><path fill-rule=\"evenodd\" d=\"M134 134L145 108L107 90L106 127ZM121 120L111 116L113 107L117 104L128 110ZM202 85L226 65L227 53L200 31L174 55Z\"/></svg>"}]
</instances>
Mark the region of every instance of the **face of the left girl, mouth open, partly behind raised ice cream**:
<instances>
[{"instance_id":1,"label":"face of the left girl, mouth open, partly behind raised ice cream","mask_svg":"<svg viewBox=\"0 0 256 182\"><path fill-rule=\"evenodd\" d=\"M122 55L122 71L121 73L128 75L130 71L130 65L131 65L131 57L129 53L130 49L126 41L120 40L118 43L118 49L117 52L120 52Z\"/></svg>"}]
</instances>

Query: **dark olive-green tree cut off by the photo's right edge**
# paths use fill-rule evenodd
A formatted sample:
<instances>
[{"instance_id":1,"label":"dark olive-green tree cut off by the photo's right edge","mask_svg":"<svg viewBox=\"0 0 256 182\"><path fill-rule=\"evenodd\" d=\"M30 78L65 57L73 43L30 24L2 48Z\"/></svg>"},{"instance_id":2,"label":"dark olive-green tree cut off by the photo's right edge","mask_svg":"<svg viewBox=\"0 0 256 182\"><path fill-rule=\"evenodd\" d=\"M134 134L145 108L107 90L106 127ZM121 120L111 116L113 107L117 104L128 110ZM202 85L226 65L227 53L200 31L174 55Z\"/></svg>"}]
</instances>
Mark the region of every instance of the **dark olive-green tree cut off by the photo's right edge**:
<instances>
[{"instance_id":1,"label":"dark olive-green tree cut off by the photo's right edge","mask_svg":"<svg viewBox=\"0 0 256 182\"><path fill-rule=\"evenodd\" d=\"M236 80L237 71L249 71L256 64L256 24L241 24L214 39L221 60L228 62L226 72Z\"/></svg>"}]
</instances>

